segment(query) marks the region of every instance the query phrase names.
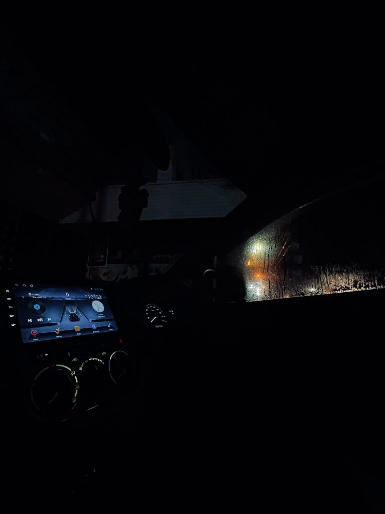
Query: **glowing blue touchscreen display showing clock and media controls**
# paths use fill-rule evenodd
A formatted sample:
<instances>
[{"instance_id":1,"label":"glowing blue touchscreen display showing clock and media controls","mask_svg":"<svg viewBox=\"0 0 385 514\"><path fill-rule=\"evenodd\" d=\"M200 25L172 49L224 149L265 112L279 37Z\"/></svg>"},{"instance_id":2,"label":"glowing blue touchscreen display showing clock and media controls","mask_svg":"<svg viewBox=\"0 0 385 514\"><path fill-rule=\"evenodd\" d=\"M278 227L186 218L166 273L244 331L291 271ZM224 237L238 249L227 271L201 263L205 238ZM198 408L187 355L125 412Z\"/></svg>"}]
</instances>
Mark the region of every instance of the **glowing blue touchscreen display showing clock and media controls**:
<instances>
[{"instance_id":1,"label":"glowing blue touchscreen display showing clock and media controls","mask_svg":"<svg viewBox=\"0 0 385 514\"><path fill-rule=\"evenodd\" d=\"M23 343L118 330L102 288L18 284L14 296Z\"/></svg>"}]
</instances>

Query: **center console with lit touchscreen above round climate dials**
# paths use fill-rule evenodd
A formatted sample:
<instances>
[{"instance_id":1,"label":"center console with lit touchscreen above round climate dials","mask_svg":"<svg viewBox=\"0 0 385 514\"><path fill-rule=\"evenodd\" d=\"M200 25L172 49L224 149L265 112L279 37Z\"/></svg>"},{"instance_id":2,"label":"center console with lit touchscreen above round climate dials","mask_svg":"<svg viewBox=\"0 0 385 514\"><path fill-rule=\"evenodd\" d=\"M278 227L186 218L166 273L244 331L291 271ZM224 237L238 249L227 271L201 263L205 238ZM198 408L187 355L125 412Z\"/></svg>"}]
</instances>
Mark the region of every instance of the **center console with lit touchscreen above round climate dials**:
<instances>
[{"instance_id":1,"label":"center console with lit touchscreen above round climate dials","mask_svg":"<svg viewBox=\"0 0 385 514\"><path fill-rule=\"evenodd\" d=\"M63 421L138 388L138 355L103 288L16 282L2 293L33 417Z\"/></svg>"}]
</instances>

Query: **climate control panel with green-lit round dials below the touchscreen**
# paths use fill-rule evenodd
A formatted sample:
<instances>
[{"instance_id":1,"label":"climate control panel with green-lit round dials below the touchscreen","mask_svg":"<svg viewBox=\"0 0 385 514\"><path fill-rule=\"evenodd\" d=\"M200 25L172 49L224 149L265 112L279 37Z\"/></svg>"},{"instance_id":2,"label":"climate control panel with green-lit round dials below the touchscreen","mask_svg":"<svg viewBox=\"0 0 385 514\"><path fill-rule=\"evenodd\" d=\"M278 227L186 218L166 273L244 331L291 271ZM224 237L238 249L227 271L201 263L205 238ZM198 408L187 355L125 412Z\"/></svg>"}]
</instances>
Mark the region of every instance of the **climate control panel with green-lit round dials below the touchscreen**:
<instances>
[{"instance_id":1,"label":"climate control panel with green-lit round dials below the touchscreen","mask_svg":"<svg viewBox=\"0 0 385 514\"><path fill-rule=\"evenodd\" d=\"M40 418L67 419L140 386L139 356L120 337L22 350L27 408Z\"/></svg>"}]
</instances>

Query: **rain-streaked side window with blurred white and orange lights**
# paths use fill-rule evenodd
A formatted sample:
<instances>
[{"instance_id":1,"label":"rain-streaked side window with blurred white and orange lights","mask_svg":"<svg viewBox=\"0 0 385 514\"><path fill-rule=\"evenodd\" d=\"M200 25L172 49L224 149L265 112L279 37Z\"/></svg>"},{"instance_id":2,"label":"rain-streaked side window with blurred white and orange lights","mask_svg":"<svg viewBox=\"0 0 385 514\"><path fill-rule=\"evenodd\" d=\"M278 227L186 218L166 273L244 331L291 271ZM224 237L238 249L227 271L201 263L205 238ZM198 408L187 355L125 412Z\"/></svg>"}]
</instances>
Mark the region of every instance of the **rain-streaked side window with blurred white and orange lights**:
<instances>
[{"instance_id":1,"label":"rain-streaked side window with blurred white and orange lights","mask_svg":"<svg viewBox=\"0 0 385 514\"><path fill-rule=\"evenodd\" d=\"M277 219L228 255L246 300L385 286L383 178L361 182Z\"/></svg>"}]
</instances>

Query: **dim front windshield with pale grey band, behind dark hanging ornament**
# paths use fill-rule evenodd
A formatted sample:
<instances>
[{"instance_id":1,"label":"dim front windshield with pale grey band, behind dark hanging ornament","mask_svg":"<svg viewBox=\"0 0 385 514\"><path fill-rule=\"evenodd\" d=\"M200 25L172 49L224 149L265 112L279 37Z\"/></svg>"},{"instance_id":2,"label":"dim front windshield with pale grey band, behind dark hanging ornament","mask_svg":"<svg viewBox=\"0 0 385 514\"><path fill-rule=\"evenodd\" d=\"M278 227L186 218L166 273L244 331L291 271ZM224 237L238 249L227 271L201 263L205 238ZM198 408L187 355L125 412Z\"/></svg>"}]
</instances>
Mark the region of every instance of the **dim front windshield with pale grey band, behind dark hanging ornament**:
<instances>
[{"instance_id":1,"label":"dim front windshield with pale grey band, behind dark hanging ornament","mask_svg":"<svg viewBox=\"0 0 385 514\"><path fill-rule=\"evenodd\" d=\"M100 186L90 205L60 220L62 227L88 226L95 233L88 279L119 281L167 272L203 231L246 198L160 109L157 124L170 149L167 170L139 153L135 180Z\"/></svg>"}]
</instances>

